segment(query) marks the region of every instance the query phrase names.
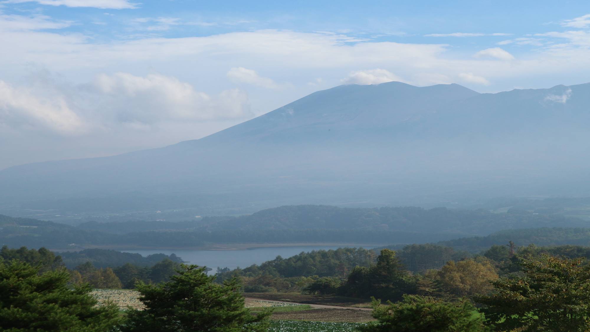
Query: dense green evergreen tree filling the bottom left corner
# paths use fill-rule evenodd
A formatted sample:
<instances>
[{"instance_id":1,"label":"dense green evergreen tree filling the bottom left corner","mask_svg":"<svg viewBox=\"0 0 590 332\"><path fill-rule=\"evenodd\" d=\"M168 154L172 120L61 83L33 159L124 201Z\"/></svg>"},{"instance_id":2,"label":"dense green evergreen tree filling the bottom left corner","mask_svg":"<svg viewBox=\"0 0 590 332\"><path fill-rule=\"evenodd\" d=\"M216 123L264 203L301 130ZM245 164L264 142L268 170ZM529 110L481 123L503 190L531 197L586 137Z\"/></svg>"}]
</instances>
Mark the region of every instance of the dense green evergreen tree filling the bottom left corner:
<instances>
[{"instance_id":1,"label":"dense green evergreen tree filling the bottom left corner","mask_svg":"<svg viewBox=\"0 0 590 332\"><path fill-rule=\"evenodd\" d=\"M65 269L39 272L25 262L0 262L0 330L104 332L119 323L116 306L94 307L89 285L68 288Z\"/></svg>"}]
</instances>

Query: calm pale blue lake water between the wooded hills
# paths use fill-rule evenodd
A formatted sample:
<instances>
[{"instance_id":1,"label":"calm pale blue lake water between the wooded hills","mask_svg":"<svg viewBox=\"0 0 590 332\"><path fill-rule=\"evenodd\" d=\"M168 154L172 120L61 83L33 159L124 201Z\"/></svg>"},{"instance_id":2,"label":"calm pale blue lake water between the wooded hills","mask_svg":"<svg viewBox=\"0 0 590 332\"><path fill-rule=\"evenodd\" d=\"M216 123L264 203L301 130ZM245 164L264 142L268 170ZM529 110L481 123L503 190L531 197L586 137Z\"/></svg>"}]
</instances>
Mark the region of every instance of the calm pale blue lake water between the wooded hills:
<instances>
[{"instance_id":1,"label":"calm pale blue lake water between the wooded hills","mask_svg":"<svg viewBox=\"0 0 590 332\"><path fill-rule=\"evenodd\" d=\"M363 245L349 245L350 247L360 247L365 249L375 248L375 246ZM291 247L273 247L273 248L254 248L243 250L122 250L124 252L139 253L142 256L152 255L153 253L165 253L171 255L175 253L184 261L200 266L208 266L213 269L213 273L217 271L217 267L235 269L238 266L245 268L252 264L260 264L280 255L283 258L288 258L302 251L312 250L329 250L337 249L342 246L291 246Z\"/></svg>"}]
</instances>

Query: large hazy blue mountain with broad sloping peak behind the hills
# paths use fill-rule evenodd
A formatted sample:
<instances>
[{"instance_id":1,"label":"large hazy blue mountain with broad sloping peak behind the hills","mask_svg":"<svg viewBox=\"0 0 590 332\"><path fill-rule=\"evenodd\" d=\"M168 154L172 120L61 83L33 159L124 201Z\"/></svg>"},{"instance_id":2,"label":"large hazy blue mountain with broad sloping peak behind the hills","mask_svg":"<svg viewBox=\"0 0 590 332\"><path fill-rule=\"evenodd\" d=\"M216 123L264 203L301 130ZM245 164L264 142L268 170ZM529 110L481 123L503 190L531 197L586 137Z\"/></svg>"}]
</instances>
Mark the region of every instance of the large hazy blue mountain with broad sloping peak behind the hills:
<instances>
[{"instance_id":1,"label":"large hazy blue mountain with broad sloping peak behind the hills","mask_svg":"<svg viewBox=\"0 0 590 332\"><path fill-rule=\"evenodd\" d=\"M589 102L590 84L493 94L457 84L337 86L202 139L8 168L0 211L188 216L587 195Z\"/></svg>"}]
</instances>

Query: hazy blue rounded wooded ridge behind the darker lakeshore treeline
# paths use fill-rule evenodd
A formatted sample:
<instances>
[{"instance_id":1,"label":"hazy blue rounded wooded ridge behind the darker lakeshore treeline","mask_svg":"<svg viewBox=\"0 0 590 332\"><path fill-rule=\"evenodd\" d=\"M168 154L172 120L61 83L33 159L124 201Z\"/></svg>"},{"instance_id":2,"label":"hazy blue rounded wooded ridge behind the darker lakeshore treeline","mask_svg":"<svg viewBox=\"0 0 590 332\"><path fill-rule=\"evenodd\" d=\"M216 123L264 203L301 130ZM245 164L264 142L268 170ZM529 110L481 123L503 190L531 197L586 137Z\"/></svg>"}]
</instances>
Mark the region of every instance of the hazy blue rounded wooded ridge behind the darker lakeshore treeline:
<instances>
[{"instance_id":1,"label":"hazy blue rounded wooded ridge behind the darker lakeshore treeline","mask_svg":"<svg viewBox=\"0 0 590 332\"><path fill-rule=\"evenodd\" d=\"M489 235L502 229L529 227L584 227L588 222L551 214L487 210L455 210L444 207L379 207L351 209L335 206L281 206L208 225L220 229L365 229L405 232L455 232Z\"/></svg>"}]
</instances>

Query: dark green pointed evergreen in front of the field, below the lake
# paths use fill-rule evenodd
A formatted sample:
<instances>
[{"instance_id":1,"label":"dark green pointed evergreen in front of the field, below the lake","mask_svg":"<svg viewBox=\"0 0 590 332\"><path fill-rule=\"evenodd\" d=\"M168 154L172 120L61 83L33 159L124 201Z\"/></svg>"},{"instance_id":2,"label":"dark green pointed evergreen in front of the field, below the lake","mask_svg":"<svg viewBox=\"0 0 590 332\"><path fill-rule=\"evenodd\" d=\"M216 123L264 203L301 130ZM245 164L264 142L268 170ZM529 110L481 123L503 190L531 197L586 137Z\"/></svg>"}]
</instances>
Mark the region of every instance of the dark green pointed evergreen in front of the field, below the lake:
<instances>
[{"instance_id":1,"label":"dark green pointed evergreen in front of the field, below the lake","mask_svg":"<svg viewBox=\"0 0 590 332\"><path fill-rule=\"evenodd\" d=\"M240 283L233 278L215 284L205 268L181 265L171 281L156 285L137 283L145 310L129 311L123 331L133 332L234 332L267 331L268 315L252 315L244 307Z\"/></svg>"}]
</instances>

